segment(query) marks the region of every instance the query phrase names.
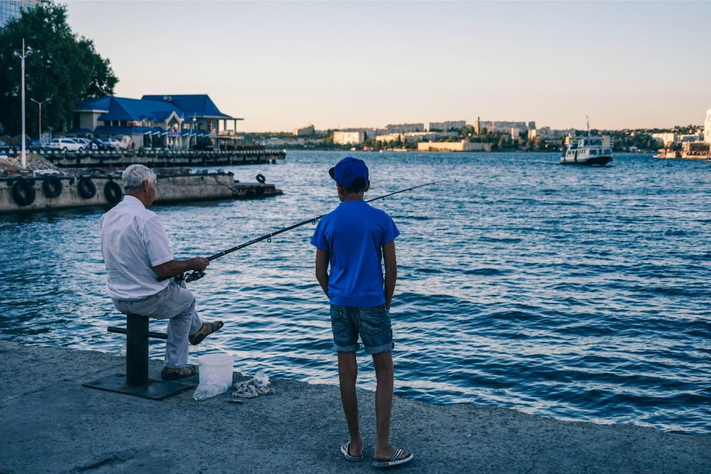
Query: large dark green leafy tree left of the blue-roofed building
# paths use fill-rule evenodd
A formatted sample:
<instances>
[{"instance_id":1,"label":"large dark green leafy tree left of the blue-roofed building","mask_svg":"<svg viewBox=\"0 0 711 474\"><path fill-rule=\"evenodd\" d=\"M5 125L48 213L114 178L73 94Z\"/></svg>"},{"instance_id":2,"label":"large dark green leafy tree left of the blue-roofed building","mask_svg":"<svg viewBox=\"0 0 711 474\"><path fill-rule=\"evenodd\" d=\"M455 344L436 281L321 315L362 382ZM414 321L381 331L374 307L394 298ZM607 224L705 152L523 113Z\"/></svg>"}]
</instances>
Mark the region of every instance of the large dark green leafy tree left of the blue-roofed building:
<instances>
[{"instance_id":1,"label":"large dark green leafy tree left of the blue-roofed building","mask_svg":"<svg viewBox=\"0 0 711 474\"><path fill-rule=\"evenodd\" d=\"M109 60L91 40L73 33L66 6L43 3L23 10L18 20L0 29L0 124L6 133L21 131L21 63L15 53L21 53L23 38L32 48L25 60L28 134L38 131L36 104L30 99L43 102L43 129L63 130L71 127L77 101L113 94L118 79Z\"/></svg>"}]
</instances>

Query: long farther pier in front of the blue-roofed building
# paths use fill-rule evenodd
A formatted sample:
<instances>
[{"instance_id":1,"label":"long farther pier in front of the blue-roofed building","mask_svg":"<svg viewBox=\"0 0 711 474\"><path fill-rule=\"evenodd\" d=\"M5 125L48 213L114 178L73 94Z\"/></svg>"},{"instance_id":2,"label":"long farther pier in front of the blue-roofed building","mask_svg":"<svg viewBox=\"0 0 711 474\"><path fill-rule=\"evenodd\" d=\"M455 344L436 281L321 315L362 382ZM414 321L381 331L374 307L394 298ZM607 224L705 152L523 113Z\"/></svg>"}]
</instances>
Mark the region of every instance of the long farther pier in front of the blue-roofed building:
<instances>
[{"instance_id":1,"label":"long farther pier in front of the blue-roofed building","mask_svg":"<svg viewBox=\"0 0 711 474\"><path fill-rule=\"evenodd\" d=\"M18 148L0 150L10 158L21 155ZM171 151L111 150L111 151L60 151L50 149L32 150L58 168L126 168L141 164L149 168L190 168L194 166L239 166L277 164L283 162L287 153L283 150L268 150L264 146L240 146L229 151Z\"/></svg>"}]
</instances>

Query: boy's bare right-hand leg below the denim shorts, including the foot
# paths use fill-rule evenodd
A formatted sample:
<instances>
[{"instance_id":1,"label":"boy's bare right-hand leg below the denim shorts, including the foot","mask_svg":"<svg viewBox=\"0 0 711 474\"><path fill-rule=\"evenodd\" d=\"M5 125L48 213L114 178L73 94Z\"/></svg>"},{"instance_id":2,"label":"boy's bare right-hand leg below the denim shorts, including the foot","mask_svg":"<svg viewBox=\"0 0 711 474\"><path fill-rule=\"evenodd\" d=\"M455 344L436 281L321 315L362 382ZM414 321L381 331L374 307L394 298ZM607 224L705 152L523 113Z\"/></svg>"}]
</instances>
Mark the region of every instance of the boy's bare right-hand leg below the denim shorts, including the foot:
<instances>
[{"instance_id":1,"label":"boy's bare right-hand leg below the denim shorts, including the foot","mask_svg":"<svg viewBox=\"0 0 711 474\"><path fill-rule=\"evenodd\" d=\"M373 354L375 365L375 424L377 429L375 453L377 460L390 460L395 448L390 445L390 412L392 411L392 384L395 369L392 367L392 352ZM409 453L402 453L405 458Z\"/></svg>"}]
</instances>

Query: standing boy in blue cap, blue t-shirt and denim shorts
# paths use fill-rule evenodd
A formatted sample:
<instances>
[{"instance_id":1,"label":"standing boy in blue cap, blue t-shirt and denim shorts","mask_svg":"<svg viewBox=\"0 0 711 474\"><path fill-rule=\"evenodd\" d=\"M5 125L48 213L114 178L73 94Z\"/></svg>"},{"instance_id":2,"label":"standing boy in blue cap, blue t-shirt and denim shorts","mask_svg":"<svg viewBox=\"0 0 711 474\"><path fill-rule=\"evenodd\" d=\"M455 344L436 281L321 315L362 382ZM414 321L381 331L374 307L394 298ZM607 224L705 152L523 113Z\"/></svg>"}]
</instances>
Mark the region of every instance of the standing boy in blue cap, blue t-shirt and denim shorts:
<instances>
[{"instance_id":1,"label":"standing boy in blue cap, blue t-shirt and denim shorts","mask_svg":"<svg viewBox=\"0 0 711 474\"><path fill-rule=\"evenodd\" d=\"M350 441L341 446L347 460L363 460L363 438L358 427L358 335L365 352L373 355L377 389L375 419L377 440L373 465L390 467L407 463L412 454L390 444L392 409L392 329L390 303L395 291L397 264L395 237L400 231L382 210L363 200L370 188L368 167L347 156L328 173L336 181L341 204L319 222L311 244L316 247L316 279L331 301L333 349L338 353L341 402ZM385 279L381 261L385 260ZM328 273L328 265L331 272Z\"/></svg>"}]
</instances>

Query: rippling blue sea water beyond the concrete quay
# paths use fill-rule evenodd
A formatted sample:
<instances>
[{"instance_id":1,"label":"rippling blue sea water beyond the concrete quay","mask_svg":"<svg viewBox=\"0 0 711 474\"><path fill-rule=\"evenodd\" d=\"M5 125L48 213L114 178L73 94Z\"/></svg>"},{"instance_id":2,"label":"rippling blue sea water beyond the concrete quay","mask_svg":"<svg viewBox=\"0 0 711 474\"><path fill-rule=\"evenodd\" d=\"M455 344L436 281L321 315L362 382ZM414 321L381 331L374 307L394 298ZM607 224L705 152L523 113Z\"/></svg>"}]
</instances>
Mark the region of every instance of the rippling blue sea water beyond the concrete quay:
<instances>
[{"instance_id":1,"label":"rippling blue sea water beyond the concrete quay","mask_svg":"<svg viewBox=\"0 0 711 474\"><path fill-rule=\"evenodd\" d=\"M618 155L603 168L557 153L287 153L257 173L261 200L156 205L176 258L210 255L324 214L328 168L370 167L366 198L400 228L391 309L395 392L435 404L670 431L711 429L711 163ZM0 217L0 337L121 353L106 296L100 208ZM189 284L225 327L191 348L253 375L337 384L314 225L213 261ZM153 330L164 330L153 321ZM151 341L151 357L164 342ZM361 352L359 386L375 388ZM278 383L278 382L277 382Z\"/></svg>"}]
</instances>

